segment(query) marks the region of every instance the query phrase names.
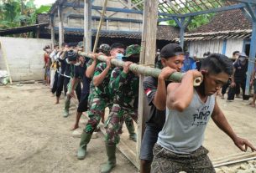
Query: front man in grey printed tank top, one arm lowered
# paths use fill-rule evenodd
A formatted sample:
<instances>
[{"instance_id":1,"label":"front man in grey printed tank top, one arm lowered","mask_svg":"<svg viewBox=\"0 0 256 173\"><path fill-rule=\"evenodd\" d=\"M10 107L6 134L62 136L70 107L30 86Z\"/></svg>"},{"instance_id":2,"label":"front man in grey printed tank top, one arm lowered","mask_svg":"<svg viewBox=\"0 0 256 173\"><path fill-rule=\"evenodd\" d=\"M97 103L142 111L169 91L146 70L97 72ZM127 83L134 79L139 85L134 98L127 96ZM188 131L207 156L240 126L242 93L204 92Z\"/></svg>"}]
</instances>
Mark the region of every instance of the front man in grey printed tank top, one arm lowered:
<instances>
[{"instance_id":1,"label":"front man in grey printed tank top, one arm lowered","mask_svg":"<svg viewBox=\"0 0 256 173\"><path fill-rule=\"evenodd\" d=\"M213 96L231 74L232 62L225 55L212 53L203 60L200 72L190 70L181 83L168 85L165 125L154 146L152 173L215 172L208 150L202 146L210 117L240 150L256 150L232 131ZM203 81L194 87L197 77L203 77Z\"/></svg>"}]
</instances>

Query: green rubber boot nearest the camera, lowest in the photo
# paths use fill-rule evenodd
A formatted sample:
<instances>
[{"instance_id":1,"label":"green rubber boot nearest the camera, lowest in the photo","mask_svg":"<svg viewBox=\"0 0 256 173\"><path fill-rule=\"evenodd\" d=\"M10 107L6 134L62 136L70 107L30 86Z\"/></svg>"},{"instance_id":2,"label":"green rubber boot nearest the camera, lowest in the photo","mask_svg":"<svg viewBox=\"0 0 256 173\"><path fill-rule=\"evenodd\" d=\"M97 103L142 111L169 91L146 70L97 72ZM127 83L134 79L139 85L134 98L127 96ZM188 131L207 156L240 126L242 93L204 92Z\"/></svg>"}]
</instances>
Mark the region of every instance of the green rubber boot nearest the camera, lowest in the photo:
<instances>
[{"instance_id":1,"label":"green rubber boot nearest the camera, lowest in the photo","mask_svg":"<svg viewBox=\"0 0 256 173\"><path fill-rule=\"evenodd\" d=\"M109 173L116 166L116 148L117 145L106 145L107 163L102 165L101 173Z\"/></svg>"}]
</instances>

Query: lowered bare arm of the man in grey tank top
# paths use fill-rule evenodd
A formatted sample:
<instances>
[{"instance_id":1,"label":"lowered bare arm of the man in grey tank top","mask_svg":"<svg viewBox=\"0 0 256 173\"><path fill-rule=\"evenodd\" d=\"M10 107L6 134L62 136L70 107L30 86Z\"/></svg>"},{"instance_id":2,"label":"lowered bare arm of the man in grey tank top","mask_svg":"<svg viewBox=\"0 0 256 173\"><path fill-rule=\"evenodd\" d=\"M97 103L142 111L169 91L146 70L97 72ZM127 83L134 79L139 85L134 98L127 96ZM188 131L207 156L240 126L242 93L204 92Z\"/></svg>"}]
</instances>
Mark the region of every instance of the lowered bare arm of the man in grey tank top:
<instances>
[{"instance_id":1,"label":"lowered bare arm of the man in grey tank top","mask_svg":"<svg viewBox=\"0 0 256 173\"><path fill-rule=\"evenodd\" d=\"M225 132L234 142L235 145L242 151L246 151L247 148L251 148L252 151L255 151L256 148L253 147L248 140L238 137L232 130L231 125L227 122L225 115L222 113L222 110L219 108L217 102L215 103L213 112L212 112L212 120L214 123L220 128L223 132ZM244 148L243 148L244 145Z\"/></svg>"}]
</instances>

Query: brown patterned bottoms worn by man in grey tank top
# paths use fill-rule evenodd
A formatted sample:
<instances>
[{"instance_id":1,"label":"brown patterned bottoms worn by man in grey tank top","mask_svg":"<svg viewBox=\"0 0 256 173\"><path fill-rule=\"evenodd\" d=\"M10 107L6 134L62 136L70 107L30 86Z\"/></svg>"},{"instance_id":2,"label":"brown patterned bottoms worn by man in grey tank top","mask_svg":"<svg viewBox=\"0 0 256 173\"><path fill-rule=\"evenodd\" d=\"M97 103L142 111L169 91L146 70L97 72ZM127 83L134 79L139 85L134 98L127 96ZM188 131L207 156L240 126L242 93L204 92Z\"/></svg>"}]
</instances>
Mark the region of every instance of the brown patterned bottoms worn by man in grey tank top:
<instances>
[{"instance_id":1,"label":"brown patterned bottoms worn by man in grey tank top","mask_svg":"<svg viewBox=\"0 0 256 173\"><path fill-rule=\"evenodd\" d=\"M151 173L215 173L212 162L207 156L209 152L201 146L191 154L175 154L162 146L154 145L154 160Z\"/></svg>"}]
</instances>

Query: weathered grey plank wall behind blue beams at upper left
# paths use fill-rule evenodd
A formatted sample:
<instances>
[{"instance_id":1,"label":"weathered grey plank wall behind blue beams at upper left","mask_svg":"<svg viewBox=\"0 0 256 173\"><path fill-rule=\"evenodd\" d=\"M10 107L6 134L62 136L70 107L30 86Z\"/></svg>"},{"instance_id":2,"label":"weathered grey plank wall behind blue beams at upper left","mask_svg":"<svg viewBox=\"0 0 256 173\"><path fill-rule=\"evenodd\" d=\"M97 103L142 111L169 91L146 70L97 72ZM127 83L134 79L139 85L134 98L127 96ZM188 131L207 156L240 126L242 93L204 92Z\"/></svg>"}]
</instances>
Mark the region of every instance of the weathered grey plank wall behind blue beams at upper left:
<instances>
[{"instance_id":1,"label":"weathered grey plank wall behind blue beams at upper left","mask_svg":"<svg viewBox=\"0 0 256 173\"><path fill-rule=\"evenodd\" d=\"M84 3L84 1L80 1ZM118 0L108 0L107 7L109 8L125 8L127 4L126 1L122 0L123 3L120 3ZM71 0L68 0L68 3L72 3ZM103 6L104 1L95 0L92 2L93 6ZM91 16L96 16L98 18L101 17L102 11L92 10ZM64 28L84 28L84 9L83 8L71 8L65 7L63 9L63 26ZM76 17L72 17L72 15L78 15ZM116 12L106 12L105 17L107 18L122 18L122 19L136 19L143 20L142 14L136 13L116 13ZM55 27L59 27L58 25L59 18L57 13L55 13ZM99 24L99 19L91 20L91 28L97 29ZM118 31L135 31L139 32L142 30L142 23L133 23L133 22L123 22L123 21L105 21L102 23L102 30L118 30Z\"/></svg>"}]
</instances>

